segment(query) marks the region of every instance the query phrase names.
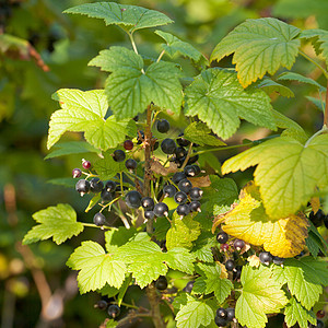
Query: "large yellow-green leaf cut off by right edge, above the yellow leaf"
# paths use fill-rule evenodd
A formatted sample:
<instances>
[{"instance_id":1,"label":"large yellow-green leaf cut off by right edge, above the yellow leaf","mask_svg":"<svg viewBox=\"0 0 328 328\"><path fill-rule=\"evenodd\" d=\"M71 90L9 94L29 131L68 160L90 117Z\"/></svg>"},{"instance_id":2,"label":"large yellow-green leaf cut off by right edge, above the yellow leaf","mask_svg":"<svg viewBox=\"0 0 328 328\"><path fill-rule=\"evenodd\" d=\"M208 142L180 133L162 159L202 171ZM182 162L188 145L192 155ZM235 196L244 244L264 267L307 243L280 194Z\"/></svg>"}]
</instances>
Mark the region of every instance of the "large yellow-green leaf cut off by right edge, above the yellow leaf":
<instances>
[{"instance_id":1,"label":"large yellow-green leaf cut off by right edge, above the yellow leaf","mask_svg":"<svg viewBox=\"0 0 328 328\"><path fill-rule=\"evenodd\" d=\"M306 204L316 186L328 185L328 134L312 139L304 147L291 138L274 138L230 160L222 173L257 165L254 176L267 213L286 218Z\"/></svg>"}]
</instances>

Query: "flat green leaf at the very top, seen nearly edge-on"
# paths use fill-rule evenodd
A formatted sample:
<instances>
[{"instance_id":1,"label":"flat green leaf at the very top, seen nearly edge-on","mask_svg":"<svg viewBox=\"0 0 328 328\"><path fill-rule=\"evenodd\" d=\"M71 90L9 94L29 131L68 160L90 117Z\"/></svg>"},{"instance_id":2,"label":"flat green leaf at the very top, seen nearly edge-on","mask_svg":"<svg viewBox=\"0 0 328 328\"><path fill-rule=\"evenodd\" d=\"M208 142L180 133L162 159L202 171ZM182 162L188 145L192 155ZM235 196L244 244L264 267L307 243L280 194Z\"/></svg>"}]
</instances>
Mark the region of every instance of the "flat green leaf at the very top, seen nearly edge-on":
<instances>
[{"instance_id":1,"label":"flat green leaf at the very top, seen nearly edge-on","mask_svg":"<svg viewBox=\"0 0 328 328\"><path fill-rule=\"evenodd\" d=\"M154 27L173 23L165 14L142 7L118 4L115 2L84 3L65 11L89 17L103 19L106 25L118 25L133 33L140 28Z\"/></svg>"}]
</instances>

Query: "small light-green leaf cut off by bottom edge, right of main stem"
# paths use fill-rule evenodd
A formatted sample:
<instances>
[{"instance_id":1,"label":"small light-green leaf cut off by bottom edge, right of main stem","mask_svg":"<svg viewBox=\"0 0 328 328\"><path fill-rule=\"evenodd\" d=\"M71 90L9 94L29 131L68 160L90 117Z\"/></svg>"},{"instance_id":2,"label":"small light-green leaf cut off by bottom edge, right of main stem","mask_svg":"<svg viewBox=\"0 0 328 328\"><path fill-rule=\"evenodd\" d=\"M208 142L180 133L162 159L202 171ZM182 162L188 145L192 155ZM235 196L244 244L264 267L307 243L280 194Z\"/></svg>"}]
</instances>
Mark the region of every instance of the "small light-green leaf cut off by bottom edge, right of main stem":
<instances>
[{"instance_id":1,"label":"small light-green leaf cut off by bottom edge, right of main stem","mask_svg":"<svg viewBox=\"0 0 328 328\"><path fill-rule=\"evenodd\" d=\"M183 305L176 315L177 328L207 327L214 318L212 308L204 302L187 295L187 304Z\"/></svg>"}]
</instances>

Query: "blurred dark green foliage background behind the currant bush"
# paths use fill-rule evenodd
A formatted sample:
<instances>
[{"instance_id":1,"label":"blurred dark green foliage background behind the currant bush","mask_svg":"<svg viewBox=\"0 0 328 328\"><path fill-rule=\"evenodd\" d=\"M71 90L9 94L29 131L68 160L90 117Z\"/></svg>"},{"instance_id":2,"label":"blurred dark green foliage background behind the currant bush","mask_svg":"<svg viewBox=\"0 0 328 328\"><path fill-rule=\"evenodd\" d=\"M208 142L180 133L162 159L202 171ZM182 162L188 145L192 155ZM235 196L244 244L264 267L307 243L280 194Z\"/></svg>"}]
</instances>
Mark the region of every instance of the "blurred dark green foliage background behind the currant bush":
<instances>
[{"instance_id":1,"label":"blurred dark green foliage background behind the currant bush","mask_svg":"<svg viewBox=\"0 0 328 328\"><path fill-rule=\"evenodd\" d=\"M87 67L90 59L112 45L130 47L117 27L106 27L99 20L62 14L65 9L86 2L94 1L0 0L1 328L98 327L106 317L93 307L98 295L79 296L75 273L65 266L73 247L86 238L102 241L101 232L85 231L60 247L50 241L28 248L21 245L24 234L34 225L32 214L46 207L67 202L78 211L79 220L92 221L93 214L84 213L87 197L80 198L73 188L61 185L74 185L71 171L81 167L84 154L44 160L48 153L48 121L58 109L51 94L62 87L102 87L105 74ZM175 23L163 30L190 42L208 58L220 39L246 19L276 16L301 28L328 28L326 0L118 2L164 12ZM138 32L136 40L141 54L159 54L162 40L153 30ZM309 45L304 45L304 51L314 56ZM187 74L197 74L188 60L179 59L179 63ZM231 67L231 57L220 66ZM297 58L293 70L325 83L320 71L303 58ZM292 83L289 86L295 97L272 95L273 106L313 134L323 124L323 114L304 95L318 97L318 94L308 85ZM268 133L266 129L243 124L227 142L241 143L243 139L259 139ZM81 138L79 133L66 133L62 140ZM222 162L232 154L221 152L218 157ZM242 186L251 177L251 171L234 177ZM129 295L134 300L141 297L138 289L129 290ZM274 320L270 325L279 327ZM134 327L151 325L136 324Z\"/></svg>"}]
</instances>

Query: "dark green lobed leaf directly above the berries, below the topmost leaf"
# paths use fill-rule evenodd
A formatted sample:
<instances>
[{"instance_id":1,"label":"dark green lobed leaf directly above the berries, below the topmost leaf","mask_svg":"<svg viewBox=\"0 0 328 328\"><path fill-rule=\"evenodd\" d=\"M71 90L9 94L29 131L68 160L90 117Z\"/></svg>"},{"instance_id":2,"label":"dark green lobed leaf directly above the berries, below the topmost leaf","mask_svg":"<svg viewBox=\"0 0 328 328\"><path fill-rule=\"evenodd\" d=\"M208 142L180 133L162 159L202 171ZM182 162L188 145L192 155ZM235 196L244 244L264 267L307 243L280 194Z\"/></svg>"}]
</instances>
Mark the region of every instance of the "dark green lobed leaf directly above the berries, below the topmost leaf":
<instances>
[{"instance_id":1,"label":"dark green lobed leaf directly above the berries, below the topmost leaf","mask_svg":"<svg viewBox=\"0 0 328 328\"><path fill-rule=\"evenodd\" d=\"M90 65L113 72L106 81L110 109L120 119L143 113L155 105L178 114L183 102L180 70L172 62L151 63L143 72L140 55L124 47L103 50Z\"/></svg>"}]
</instances>

